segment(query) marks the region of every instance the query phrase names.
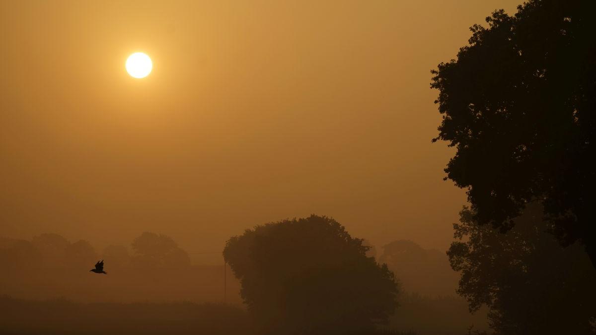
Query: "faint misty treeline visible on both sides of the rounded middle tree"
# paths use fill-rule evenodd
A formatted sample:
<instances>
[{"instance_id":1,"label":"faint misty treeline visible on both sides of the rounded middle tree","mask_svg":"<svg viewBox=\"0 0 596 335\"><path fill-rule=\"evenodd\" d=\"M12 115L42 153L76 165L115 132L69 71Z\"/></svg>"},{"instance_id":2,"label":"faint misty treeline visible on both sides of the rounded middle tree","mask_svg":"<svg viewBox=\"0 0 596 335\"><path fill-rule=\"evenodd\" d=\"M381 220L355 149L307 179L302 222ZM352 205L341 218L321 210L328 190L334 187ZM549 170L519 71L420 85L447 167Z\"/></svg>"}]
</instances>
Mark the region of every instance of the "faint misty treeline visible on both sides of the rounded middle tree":
<instances>
[{"instance_id":1,"label":"faint misty treeline visible on both sides of the rounded middle tree","mask_svg":"<svg viewBox=\"0 0 596 335\"><path fill-rule=\"evenodd\" d=\"M454 296L458 274L449 268L447 256L426 250L409 240L370 247L367 255L387 263L402 290L423 296ZM105 260L105 291L89 291L88 273L97 260ZM71 242L53 233L31 240L0 237L0 294L30 299L66 297L73 300L122 301L192 300L241 303L240 283L223 265L191 265L188 253L172 238L144 232L130 246L114 245L98 251L89 241ZM227 293L224 297L224 284ZM126 289L123 289L126 288Z\"/></svg>"}]
</instances>

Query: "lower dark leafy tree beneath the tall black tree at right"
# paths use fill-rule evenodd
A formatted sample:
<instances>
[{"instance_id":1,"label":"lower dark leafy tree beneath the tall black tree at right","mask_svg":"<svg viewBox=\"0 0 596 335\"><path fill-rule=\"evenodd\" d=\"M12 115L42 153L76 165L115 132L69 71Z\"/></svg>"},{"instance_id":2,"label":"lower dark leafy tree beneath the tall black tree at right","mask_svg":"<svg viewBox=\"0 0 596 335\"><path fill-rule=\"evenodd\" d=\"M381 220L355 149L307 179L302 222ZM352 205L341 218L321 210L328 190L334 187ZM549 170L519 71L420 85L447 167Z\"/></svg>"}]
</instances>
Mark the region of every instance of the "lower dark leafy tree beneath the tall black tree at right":
<instances>
[{"instance_id":1,"label":"lower dark leafy tree beneath the tall black tree at right","mask_svg":"<svg viewBox=\"0 0 596 335\"><path fill-rule=\"evenodd\" d=\"M458 293L471 311L490 308L498 334L589 334L596 315L596 270L578 243L561 247L545 232L538 204L501 234L464 208L448 255L461 271Z\"/></svg>"}]
</instances>

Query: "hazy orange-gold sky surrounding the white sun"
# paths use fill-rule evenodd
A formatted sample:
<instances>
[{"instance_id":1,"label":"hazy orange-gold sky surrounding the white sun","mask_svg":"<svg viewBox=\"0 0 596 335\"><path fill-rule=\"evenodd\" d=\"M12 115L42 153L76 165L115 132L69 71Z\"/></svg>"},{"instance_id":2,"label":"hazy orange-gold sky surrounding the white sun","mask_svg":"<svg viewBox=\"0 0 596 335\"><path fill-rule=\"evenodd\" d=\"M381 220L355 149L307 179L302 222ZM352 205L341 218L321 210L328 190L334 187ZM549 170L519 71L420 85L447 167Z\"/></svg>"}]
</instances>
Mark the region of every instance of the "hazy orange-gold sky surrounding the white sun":
<instances>
[{"instance_id":1,"label":"hazy orange-gold sky surrounding the white sun","mask_svg":"<svg viewBox=\"0 0 596 335\"><path fill-rule=\"evenodd\" d=\"M0 235L198 253L316 213L445 250L465 194L430 70L519 3L2 1Z\"/></svg>"}]
</instances>

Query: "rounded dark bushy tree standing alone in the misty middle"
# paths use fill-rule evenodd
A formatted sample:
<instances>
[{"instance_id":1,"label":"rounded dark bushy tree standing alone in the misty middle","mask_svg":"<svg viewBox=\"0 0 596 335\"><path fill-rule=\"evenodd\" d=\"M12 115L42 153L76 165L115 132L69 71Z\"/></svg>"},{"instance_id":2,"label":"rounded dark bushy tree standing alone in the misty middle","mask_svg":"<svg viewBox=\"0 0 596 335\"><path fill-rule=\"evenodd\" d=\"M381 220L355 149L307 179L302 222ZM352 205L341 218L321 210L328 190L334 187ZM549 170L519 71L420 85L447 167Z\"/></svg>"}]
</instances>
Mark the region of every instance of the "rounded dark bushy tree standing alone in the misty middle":
<instances>
[{"instance_id":1,"label":"rounded dark bushy tree standing alone in the misty middle","mask_svg":"<svg viewBox=\"0 0 596 335\"><path fill-rule=\"evenodd\" d=\"M247 229L224 257L264 331L333 334L370 330L396 307L393 274L367 249L338 222L312 215Z\"/></svg>"}]
</instances>

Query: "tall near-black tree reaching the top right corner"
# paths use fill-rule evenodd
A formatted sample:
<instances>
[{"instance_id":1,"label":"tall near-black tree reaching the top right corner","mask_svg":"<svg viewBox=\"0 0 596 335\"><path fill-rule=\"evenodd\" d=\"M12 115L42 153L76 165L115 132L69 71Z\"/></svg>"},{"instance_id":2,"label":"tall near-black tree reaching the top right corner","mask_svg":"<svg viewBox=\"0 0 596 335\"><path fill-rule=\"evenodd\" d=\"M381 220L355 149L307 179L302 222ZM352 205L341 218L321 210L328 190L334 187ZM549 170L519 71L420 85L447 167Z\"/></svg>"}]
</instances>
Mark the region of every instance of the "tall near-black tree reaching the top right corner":
<instances>
[{"instance_id":1,"label":"tall near-black tree reaching the top right corner","mask_svg":"<svg viewBox=\"0 0 596 335\"><path fill-rule=\"evenodd\" d=\"M479 224L507 231L538 201L564 245L596 266L596 1L530 0L471 27L457 60L433 71L457 153L445 171Z\"/></svg>"}]
</instances>

